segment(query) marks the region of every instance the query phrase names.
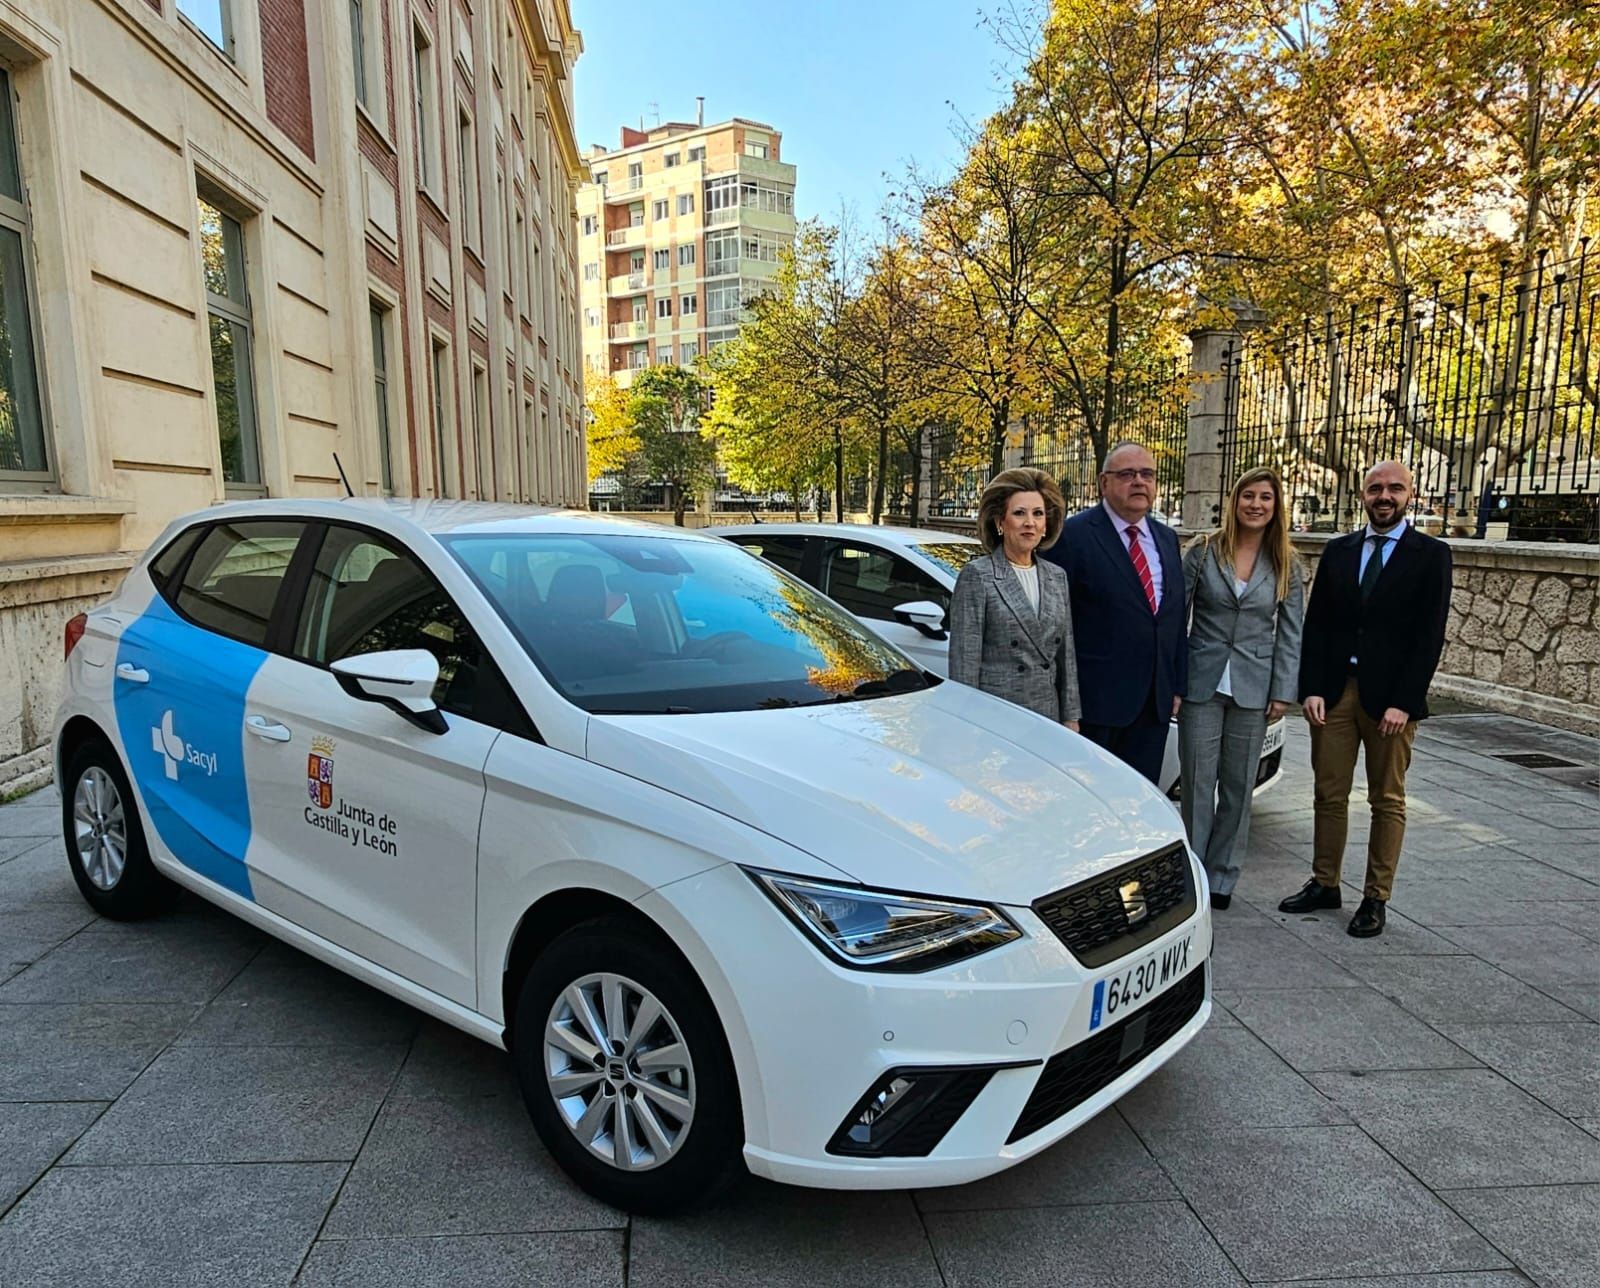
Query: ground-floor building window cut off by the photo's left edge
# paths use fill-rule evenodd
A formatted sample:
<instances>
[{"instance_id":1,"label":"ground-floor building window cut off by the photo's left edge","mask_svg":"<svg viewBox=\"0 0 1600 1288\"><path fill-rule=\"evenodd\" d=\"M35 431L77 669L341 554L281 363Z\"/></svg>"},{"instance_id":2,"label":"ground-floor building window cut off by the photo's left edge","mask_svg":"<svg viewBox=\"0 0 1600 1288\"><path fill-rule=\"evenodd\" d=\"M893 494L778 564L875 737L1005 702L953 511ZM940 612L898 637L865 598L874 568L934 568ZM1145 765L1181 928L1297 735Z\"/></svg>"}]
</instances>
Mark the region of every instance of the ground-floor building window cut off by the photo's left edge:
<instances>
[{"instance_id":1,"label":"ground-floor building window cut off by the photo's left edge","mask_svg":"<svg viewBox=\"0 0 1600 1288\"><path fill-rule=\"evenodd\" d=\"M34 357L32 248L11 120L11 77L0 69L0 478L50 475Z\"/></svg>"}]
</instances>

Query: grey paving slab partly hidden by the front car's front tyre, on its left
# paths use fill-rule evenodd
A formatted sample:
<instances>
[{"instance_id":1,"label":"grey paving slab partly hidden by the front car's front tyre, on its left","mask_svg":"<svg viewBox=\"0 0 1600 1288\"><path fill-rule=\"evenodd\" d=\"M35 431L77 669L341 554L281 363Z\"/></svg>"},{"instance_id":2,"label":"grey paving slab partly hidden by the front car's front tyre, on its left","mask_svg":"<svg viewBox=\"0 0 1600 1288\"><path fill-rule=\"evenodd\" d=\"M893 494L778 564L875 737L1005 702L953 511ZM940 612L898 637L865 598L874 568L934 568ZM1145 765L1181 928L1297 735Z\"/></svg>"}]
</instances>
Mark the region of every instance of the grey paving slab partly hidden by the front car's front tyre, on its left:
<instances>
[{"instance_id":1,"label":"grey paving slab partly hidden by the front car's front tyre, on its left","mask_svg":"<svg viewBox=\"0 0 1600 1288\"><path fill-rule=\"evenodd\" d=\"M328 1216L328 1238L621 1229L557 1168L520 1099L392 1099Z\"/></svg>"}]
</instances>

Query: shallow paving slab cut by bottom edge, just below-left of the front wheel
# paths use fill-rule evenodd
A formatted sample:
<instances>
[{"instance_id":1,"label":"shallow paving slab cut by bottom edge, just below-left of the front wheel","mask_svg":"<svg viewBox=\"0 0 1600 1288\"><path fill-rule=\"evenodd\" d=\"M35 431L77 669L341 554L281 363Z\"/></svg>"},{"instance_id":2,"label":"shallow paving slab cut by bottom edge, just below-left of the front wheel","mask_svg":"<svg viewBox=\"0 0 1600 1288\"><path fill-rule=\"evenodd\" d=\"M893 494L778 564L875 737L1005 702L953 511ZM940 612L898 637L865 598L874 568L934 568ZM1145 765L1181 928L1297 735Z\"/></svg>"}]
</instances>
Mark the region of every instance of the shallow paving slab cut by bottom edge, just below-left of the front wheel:
<instances>
[{"instance_id":1,"label":"shallow paving slab cut by bottom edge, just below-left of the front wheel","mask_svg":"<svg viewBox=\"0 0 1600 1288\"><path fill-rule=\"evenodd\" d=\"M622 1288L621 1230L490 1234L469 1238L325 1240L310 1250L296 1288Z\"/></svg>"}]
</instances>

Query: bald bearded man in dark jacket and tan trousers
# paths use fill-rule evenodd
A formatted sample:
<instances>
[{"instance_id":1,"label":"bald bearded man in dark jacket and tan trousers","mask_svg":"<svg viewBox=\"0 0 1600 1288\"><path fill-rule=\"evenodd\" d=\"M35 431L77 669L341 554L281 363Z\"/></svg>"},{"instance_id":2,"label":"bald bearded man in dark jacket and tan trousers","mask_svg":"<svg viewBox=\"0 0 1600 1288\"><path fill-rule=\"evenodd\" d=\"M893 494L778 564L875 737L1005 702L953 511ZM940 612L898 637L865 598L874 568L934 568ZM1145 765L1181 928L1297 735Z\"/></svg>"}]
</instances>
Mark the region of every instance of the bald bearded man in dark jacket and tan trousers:
<instances>
[{"instance_id":1,"label":"bald bearded man in dark jacket and tan trousers","mask_svg":"<svg viewBox=\"0 0 1600 1288\"><path fill-rule=\"evenodd\" d=\"M1403 464L1384 461L1368 470L1366 526L1323 550L1301 645L1317 826L1312 878L1278 910L1339 907L1350 784L1355 755L1365 749L1373 827L1366 885L1349 926L1357 938L1384 930L1405 840L1405 771L1450 616L1450 547L1406 522L1410 502L1411 470Z\"/></svg>"}]
</instances>

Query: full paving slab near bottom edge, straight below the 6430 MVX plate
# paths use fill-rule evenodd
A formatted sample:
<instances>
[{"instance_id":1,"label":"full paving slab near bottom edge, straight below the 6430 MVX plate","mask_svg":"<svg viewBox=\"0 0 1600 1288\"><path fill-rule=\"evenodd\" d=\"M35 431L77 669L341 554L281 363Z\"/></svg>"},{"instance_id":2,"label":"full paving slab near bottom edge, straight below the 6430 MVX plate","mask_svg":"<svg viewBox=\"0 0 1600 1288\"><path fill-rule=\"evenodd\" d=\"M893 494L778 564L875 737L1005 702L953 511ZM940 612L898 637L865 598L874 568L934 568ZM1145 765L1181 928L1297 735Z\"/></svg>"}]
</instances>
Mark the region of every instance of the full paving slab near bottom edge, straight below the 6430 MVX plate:
<instances>
[{"instance_id":1,"label":"full paving slab near bottom edge, straight below the 6430 MVX plate","mask_svg":"<svg viewBox=\"0 0 1600 1288\"><path fill-rule=\"evenodd\" d=\"M1245 1282L1184 1203L939 1213L928 1237L949 1288Z\"/></svg>"}]
</instances>

